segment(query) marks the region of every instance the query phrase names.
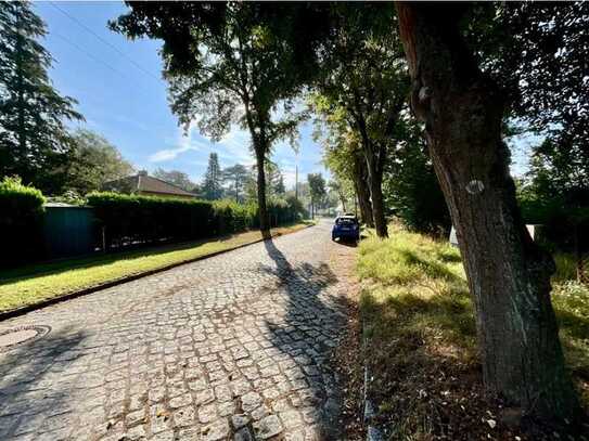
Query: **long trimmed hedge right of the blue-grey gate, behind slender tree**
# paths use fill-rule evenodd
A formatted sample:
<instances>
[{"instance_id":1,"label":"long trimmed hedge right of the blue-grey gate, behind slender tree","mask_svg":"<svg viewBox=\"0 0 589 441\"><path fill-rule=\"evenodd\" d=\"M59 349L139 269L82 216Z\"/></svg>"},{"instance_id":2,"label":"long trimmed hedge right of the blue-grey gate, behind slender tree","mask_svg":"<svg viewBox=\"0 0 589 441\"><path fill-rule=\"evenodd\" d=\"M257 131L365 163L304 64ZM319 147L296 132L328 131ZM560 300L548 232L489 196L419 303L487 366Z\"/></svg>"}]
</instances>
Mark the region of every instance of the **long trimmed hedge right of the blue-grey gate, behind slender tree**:
<instances>
[{"instance_id":1,"label":"long trimmed hedge right of the blue-grey gate, behind slender tree","mask_svg":"<svg viewBox=\"0 0 589 441\"><path fill-rule=\"evenodd\" d=\"M119 193L91 193L88 205L104 231L107 248L153 242L178 242L231 234L257 228L255 204L171 199ZM268 204L270 221L294 221L295 207L283 200Z\"/></svg>"}]
</instances>

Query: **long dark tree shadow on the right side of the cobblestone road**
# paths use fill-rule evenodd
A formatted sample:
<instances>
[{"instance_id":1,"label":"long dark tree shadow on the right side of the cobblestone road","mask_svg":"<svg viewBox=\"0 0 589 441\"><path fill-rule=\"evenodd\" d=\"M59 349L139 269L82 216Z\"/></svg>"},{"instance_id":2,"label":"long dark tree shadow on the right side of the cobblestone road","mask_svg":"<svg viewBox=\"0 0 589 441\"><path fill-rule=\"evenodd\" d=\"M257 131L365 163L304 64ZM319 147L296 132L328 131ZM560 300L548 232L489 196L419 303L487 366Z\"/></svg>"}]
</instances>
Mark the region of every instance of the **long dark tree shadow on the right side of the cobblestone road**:
<instances>
[{"instance_id":1,"label":"long dark tree shadow on the right side of the cobblestone road","mask_svg":"<svg viewBox=\"0 0 589 441\"><path fill-rule=\"evenodd\" d=\"M313 410L315 418L307 423L320 439L340 439L342 394L330 355L346 321L347 304L343 297L326 293L338 280L325 263L293 265L271 239L264 245L276 268L263 265L261 271L278 277L286 301L281 324L267 322L271 342L295 361L286 373L292 384L302 386L295 399L300 399L303 408Z\"/></svg>"}]
</instances>

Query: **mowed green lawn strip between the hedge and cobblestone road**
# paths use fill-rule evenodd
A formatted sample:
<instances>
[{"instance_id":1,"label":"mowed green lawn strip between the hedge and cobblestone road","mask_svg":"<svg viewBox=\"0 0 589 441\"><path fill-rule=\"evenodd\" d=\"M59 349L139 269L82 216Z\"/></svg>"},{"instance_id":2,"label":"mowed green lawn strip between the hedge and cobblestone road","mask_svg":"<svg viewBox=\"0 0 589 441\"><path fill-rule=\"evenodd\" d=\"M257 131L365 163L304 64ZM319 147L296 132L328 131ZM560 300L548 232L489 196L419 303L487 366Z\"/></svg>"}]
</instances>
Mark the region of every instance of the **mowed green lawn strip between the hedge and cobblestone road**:
<instances>
[{"instance_id":1,"label":"mowed green lawn strip between the hedge and cobblestone road","mask_svg":"<svg viewBox=\"0 0 589 441\"><path fill-rule=\"evenodd\" d=\"M309 223L272 229L272 236L293 233ZM259 231L189 244L41 263L0 272L0 312L38 303L130 275L190 261L261 239Z\"/></svg>"}]
</instances>

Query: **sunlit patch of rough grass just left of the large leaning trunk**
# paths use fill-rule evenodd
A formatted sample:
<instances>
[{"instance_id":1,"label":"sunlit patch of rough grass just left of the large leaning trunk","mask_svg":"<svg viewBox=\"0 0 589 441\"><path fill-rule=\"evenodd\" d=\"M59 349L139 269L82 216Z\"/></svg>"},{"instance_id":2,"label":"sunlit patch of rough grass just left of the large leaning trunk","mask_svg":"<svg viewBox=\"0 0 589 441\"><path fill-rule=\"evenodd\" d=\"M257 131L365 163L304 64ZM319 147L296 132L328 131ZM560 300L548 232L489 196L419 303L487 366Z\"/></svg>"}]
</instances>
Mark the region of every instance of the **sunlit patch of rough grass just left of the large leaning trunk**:
<instances>
[{"instance_id":1,"label":"sunlit patch of rough grass just left of the large leaning trunk","mask_svg":"<svg viewBox=\"0 0 589 441\"><path fill-rule=\"evenodd\" d=\"M474 354L472 302L457 248L392 228L388 239L363 241L359 254L360 277L370 281L361 297L368 333Z\"/></svg>"}]
</instances>

